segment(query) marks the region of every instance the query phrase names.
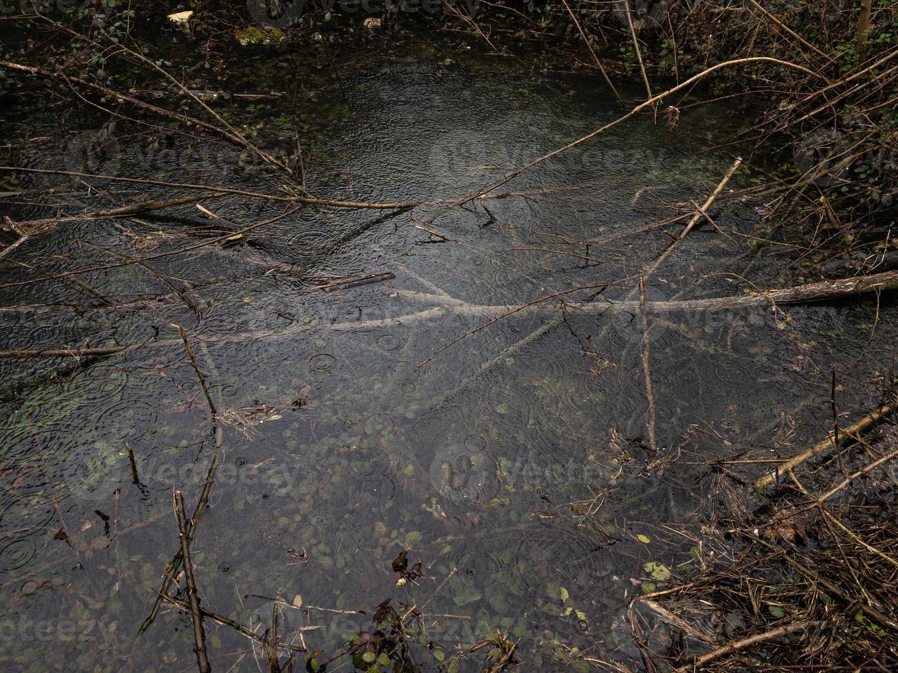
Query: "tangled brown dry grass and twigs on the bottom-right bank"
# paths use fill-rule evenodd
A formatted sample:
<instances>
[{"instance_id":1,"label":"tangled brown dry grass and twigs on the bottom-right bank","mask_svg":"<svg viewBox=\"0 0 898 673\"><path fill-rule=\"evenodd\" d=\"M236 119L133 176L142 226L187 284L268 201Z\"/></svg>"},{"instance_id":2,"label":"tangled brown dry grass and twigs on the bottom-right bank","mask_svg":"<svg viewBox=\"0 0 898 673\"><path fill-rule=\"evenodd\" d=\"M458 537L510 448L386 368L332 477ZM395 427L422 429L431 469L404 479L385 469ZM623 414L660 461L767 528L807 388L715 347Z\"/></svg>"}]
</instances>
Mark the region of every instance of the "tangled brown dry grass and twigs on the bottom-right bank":
<instances>
[{"instance_id":1,"label":"tangled brown dry grass and twigs on the bottom-right bank","mask_svg":"<svg viewBox=\"0 0 898 673\"><path fill-rule=\"evenodd\" d=\"M896 450L893 427L841 460L863 471ZM647 670L898 667L896 462L826 497L845 481L839 462L766 498L715 477L696 571L631 606Z\"/></svg>"}]
</instances>

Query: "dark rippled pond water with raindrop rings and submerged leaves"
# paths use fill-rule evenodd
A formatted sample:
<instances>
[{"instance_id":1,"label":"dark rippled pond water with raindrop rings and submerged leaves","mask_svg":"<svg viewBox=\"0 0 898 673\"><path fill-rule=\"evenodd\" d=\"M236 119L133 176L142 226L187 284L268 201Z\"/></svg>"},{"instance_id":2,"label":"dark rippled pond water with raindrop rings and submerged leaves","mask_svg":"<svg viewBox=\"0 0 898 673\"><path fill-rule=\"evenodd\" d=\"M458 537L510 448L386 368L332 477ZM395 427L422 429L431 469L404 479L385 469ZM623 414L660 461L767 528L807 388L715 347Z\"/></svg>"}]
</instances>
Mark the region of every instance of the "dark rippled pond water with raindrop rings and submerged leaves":
<instances>
[{"instance_id":1,"label":"dark rippled pond water with raindrop rings and submerged leaves","mask_svg":"<svg viewBox=\"0 0 898 673\"><path fill-rule=\"evenodd\" d=\"M629 108L597 78L453 57L443 65L445 54L429 51L369 56L343 66L339 83L310 75L281 98L211 104L271 152L293 152L298 132L313 195L366 201L458 197ZM232 91L284 91L290 57L239 58L246 82ZM241 168L251 159L215 141L148 138L87 111L60 118L23 92L4 101L18 119L4 142L23 143L24 165L79 168L86 159L101 173L269 193L284 183ZM301 633L327 657L391 598L400 613L417 606L425 615L435 645L416 652L424 669L496 629L521 638L524 669L588 669L576 661L584 652L638 666L627 603L664 588L668 571L689 572L691 542L662 542L671 536L660 527L700 524L702 462L770 442L784 419L797 445L818 436L834 364L846 408L863 396L894 337L880 329L871 338L876 307L649 316L658 453L648 449L638 313L562 309L559 297L418 363L495 316L489 307L610 281L619 283L567 299L632 299L635 280L621 279L651 264L683 223L637 230L677 214L668 204L709 194L733 159L713 147L741 123L712 107L684 110L674 129L660 115L657 124L631 120L497 190L515 195L428 225L453 242L415 227L445 205L310 206L243 246L147 262L167 284L132 265L73 276L82 284L0 288L0 349L146 342L77 367L0 363L0 661L193 669L189 615L166 607L145 634L136 630L178 549L172 489L192 511L220 442L192 547L209 609L262 632L275 599L302 600L278 631L319 626ZM98 142L99 156L81 151ZM182 194L87 181L100 191L27 176L18 188L39 193L6 197L4 213L21 221L75 199L101 209ZM245 197L203 205L231 229L282 212ZM726 231L758 224L749 205L714 214ZM178 249L221 226L193 205L66 223L4 254L0 285ZM600 242L571 246L560 236ZM795 282L786 258L747 243L700 226L650 279L648 300ZM315 289L387 272L395 277L386 282ZM103 306L83 284L125 306ZM206 375L216 425L172 324L185 328ZM423 577L397 586L391 562L402 550ZM207 622L207 632L215 669L265 666L233 630Z\"/></svg>"}]
</instances>

